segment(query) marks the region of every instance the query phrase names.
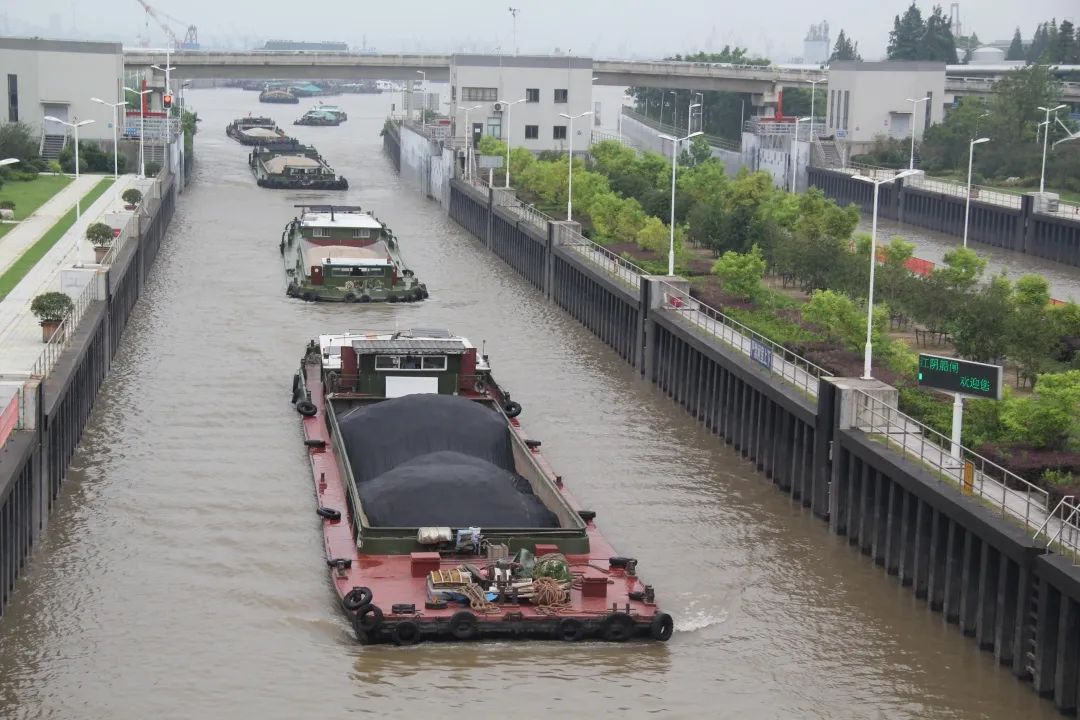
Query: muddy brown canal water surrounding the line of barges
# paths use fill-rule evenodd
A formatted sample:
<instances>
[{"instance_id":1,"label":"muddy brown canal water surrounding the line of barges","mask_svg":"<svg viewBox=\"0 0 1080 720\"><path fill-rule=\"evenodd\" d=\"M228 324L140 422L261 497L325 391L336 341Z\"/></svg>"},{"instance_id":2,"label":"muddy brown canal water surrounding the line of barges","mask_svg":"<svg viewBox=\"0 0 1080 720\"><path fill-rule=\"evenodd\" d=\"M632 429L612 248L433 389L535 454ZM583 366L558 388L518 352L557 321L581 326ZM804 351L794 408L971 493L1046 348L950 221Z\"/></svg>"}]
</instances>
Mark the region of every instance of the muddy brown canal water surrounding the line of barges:
<instances>
[{"instance_id":1,"label":"muddy brown canal water surrounding the line of barges","mask_svg":"<svg viewBox=\"0 0 1080 720\"><path fill-rule=\"evenodd\" d=\"M1055 718L924 602L758 475L405 187L391 95L189 93L194 182L0 619L0 717ZM226 123L268 113L348 176L262 190ZM284 295L311 201L387 220L432 290L409 305ZM445 326L486 341L530 435L676 617L666 644L361 647L327 579L289 382L321 331Z\"/></svg>"}]
</instances>

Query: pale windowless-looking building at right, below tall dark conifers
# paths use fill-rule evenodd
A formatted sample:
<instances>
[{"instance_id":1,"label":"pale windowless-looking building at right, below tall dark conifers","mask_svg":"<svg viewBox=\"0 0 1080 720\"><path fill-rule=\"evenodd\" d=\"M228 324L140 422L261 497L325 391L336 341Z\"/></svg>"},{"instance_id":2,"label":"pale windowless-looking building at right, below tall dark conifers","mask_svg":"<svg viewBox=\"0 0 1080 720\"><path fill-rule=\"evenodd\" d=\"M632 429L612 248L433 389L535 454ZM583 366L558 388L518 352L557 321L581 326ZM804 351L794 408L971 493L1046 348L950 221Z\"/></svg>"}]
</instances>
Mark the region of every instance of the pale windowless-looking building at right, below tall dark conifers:
<instances>
[{"instance_id":1,"label":"pale windowless-looking building at right, below tall dark conifers","mask_svg":"<svg viewBox=\"0 0 1080 720\"><path fill-rule=\"evenodd\" d=\"M929 97L915 105L909 99ZM942 121L945 108L944 63L836 62L828 68L825 135L868 147L878 136L915 137ZM913 114L914 110L914 114Z\"/></svg>"}]
</instances>

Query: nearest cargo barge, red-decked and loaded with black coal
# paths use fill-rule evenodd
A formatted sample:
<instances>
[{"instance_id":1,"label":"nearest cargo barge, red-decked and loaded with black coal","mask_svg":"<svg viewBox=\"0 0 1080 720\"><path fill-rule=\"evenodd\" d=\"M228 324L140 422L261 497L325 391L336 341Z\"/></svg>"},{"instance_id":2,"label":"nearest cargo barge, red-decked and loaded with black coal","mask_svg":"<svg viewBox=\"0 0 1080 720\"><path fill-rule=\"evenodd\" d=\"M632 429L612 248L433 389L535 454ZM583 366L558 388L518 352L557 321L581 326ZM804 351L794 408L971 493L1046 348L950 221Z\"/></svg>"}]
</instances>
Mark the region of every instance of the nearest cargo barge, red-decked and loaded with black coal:
<instances>
[{"instance_id":1,"label":"nearest cargo barge, red-decked and loaded with black coal","mask_svg":"<svg viewBox=\"0 0 1080 720\"><path fill-rule=\"evenodd\" d=\"M671 638L637 561L604 540L465 338L321 336L293 403L362 643Z\"/></svg>"}]
</instances>

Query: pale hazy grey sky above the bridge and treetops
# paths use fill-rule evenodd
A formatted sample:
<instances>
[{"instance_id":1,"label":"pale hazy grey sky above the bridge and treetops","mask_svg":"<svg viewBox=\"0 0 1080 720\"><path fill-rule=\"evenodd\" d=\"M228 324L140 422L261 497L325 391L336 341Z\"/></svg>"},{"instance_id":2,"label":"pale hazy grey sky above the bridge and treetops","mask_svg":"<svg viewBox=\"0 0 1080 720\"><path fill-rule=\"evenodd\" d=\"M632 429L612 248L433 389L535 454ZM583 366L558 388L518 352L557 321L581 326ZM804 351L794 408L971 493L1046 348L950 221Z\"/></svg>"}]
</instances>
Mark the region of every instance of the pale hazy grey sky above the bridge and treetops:
<instances>
[{"instance_id":1,"label":"pale hazy grey sky above the bridge and treetops","mask_svg":"<svg viewBox=\"0 0 1080 720\"><path fill-rule=\"evenodd\" d=\"M908 0L511 0L521 52L556 47L594 57L656 57L672 52L747 46L774 60L802 53L811 24L827 21L835 42L840 29L859 42L865 59L878 59L892 18ZM507 0L387 2L380 0L150 0L159 11L199 27L203 43L243 45L260 39L341 40L381 51L487 51L512 45ZM928 11L933 2L919 1ZM943 3L948 14L949 3ZM1025 38L1038 22L1080 22L1080 0L966 0L964 33L1008 39L1017 25ZM146 32L137 0L4 0L0 31L14 35L95 38L106 35L134 43ZM183 28L173 23L177 31ZM73 32L72 28L77 28ZM153 46L164 35L150 24Z\"/></svg>"}]
</instances>

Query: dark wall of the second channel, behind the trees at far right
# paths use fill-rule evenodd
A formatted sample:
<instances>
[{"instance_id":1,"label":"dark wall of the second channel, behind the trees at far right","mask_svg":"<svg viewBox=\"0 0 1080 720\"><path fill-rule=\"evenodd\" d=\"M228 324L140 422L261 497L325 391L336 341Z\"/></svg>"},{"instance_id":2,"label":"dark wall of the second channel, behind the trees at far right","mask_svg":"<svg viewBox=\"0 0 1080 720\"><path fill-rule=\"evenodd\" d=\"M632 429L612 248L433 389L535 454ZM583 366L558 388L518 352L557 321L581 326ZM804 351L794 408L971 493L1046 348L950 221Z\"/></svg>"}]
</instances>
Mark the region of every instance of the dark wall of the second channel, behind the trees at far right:
<instances>
[{"instance_id":1,"label":"dark wall of the second channel, behind the trees at far right","mask_svg":"<svg viewBox=\"0 0 1080 720\"><path fill-rule=\"evenodd\" d=\"M874 187L854 180L850 173L811 167L810 185L841 204L855 203L864 213L874 209ZM1080 217L1037 213L1034 195L1020 196L1020 207L971 199L968 239L984 245L1080 266ZM900 222L963 236L964 198L908 187L904 179L883 185L878 214Z\"/></svg>"}]
</instances>

